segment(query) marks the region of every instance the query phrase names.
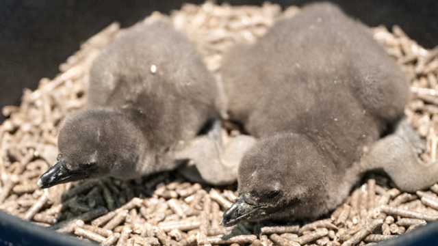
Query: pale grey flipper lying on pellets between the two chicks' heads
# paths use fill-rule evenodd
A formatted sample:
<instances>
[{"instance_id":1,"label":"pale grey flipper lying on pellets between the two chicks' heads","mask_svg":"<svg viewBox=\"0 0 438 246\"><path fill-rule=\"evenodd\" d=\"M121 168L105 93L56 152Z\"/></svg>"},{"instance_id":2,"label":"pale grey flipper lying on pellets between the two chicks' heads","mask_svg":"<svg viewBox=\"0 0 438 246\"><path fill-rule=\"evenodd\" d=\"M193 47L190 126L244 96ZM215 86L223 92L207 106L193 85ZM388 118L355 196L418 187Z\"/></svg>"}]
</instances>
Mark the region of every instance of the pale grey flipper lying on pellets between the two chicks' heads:
<instances>
[{"instance_id":1,"label":"pale grey flipper lying on pellets between the two chicks' heads","mask_svg":"<svg viewBox=\"0 0 438 246\"><path fill-rule=\"evenodd\" d=\"M198 181L194 165L204 182L214 185L232 184L237 180L240 159L254 143L254 137L239 135L231 137L222 147L211 137L203 135L183 143L175 151L175 159L192 161L192 164L188 163L179 169L190 180Z\"/></svg>"}]
</instances>

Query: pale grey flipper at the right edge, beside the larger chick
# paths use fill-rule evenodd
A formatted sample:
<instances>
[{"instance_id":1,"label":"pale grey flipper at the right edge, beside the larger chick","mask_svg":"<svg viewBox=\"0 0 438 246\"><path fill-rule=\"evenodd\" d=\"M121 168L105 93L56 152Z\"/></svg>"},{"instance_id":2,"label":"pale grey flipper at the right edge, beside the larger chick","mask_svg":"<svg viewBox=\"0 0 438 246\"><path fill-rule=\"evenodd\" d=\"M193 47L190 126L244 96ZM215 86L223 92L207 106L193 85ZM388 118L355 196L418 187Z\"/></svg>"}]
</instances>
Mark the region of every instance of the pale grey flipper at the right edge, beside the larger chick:
<instances>
[{"instance_id":1,"label":"pale grey flipper at the right edge, beside the larger chick","mask_svg":"<svg viewBox=\"0 0 438 246\"><path fill-rule=\"evenodd\" d=\"M376 141L364 154L362 171L383 169L403 191L426 189L438 182L438 163L424 163L411 143L399 135L389 135Z\"/></svg>"}]
</instances>

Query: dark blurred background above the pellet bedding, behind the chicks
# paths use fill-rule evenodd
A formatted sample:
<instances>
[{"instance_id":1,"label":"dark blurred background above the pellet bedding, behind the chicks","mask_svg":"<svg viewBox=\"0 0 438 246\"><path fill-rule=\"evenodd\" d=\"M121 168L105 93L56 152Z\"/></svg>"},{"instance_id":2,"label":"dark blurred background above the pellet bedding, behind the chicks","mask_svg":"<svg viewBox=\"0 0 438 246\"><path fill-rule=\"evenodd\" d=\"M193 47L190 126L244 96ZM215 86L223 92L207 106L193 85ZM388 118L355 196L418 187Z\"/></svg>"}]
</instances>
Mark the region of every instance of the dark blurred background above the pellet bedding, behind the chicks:
<instances>
[{"instance_id":1,"label":"dark blurred background above the pellet bedding, behind the chicks","mask_svg":"<svg viewBox=\"0 0 438 246\"><path fill-rule=\"evenodd\" d=\"M229 0L233 5L260 5L264 0ZM154 10L168 13L185 1L146 0L0 0L0 107L18 105L24 87L35 89L42 77L53 78L57 66L79 44L114 20L133 25ZM201 1L189 1L203 3ZM222 3L223 1L217 1ZM284 7L309 0L276 1ZM370 26L400 25L426 48L438 45L437 0L333 0ZM0 122L3 121L0 115Z\"/></svg>"}]
</instances>

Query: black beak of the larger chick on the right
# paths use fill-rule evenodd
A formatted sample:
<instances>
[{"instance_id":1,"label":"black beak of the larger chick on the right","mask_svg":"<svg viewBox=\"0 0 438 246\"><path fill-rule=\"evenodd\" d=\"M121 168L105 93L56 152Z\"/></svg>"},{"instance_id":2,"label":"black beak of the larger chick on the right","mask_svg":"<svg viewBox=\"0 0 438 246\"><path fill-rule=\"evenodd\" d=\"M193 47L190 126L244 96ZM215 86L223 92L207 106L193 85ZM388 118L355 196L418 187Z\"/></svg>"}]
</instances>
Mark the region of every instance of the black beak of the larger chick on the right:
<instances>
[{"instance_id":1,"label":"black beak of the larger chick on the right","mask_svg":"<svg viewBox=\"0 0 438 246\"><path fill-rule=\"evenodd\" d=\"M224 212L220 223L222 226L234 226L240 221L248 221L253 219L253 217L261 217L265 213L263 211L264 208L267 208L267 206L248 204L244 198L240 196L239 199Z\"/></svg>"}]
</instances>

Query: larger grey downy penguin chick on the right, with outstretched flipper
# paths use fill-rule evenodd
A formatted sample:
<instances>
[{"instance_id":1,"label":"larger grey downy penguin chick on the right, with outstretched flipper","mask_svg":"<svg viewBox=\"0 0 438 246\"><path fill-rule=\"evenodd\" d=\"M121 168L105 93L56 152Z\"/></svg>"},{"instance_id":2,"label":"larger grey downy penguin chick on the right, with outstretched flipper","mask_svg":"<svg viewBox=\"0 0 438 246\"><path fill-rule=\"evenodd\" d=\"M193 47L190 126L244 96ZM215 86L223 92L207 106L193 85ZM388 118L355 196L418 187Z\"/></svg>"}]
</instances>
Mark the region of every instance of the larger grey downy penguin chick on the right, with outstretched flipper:
<instances>
[{"instance_id":1,"label":"larger grey downy penguin chick on the right, with outstretched flipper","mask_svg":"<svg viewBox=\"0 0 438 246\"><path fill-rule=\"evenodd\" d=\"M421 141L409 124L381 137L400 119L409 84L370 30L334 5L279 20L223 64L231 119L259 138L240 164L240 195L224 226L319 217L371 169L404 191L438 180L438 165L417 159L411 141Z\"/></svg>"}]
</instances>

